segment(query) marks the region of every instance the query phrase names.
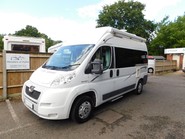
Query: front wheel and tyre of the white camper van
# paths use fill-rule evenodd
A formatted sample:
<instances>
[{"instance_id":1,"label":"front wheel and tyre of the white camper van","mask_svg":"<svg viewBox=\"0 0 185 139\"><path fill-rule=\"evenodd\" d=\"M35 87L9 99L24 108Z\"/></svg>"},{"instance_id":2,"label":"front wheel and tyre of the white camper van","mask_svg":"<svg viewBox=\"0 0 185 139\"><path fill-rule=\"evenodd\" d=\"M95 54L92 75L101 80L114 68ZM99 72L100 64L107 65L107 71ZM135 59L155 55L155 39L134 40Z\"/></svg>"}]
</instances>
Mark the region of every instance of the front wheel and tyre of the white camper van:
<instances>
[{"instance_id":1,"label":"front wheel and tyre of the white camper van","mask_svg":"<svg viewBox=\"0 0 185 139\"><path fill-rule=\"evenodd\" d=\"M71 119L77 123L84 123L92 116L93 101L89 96L77 98L71 109Z\"/></svg>"}]
</instances>

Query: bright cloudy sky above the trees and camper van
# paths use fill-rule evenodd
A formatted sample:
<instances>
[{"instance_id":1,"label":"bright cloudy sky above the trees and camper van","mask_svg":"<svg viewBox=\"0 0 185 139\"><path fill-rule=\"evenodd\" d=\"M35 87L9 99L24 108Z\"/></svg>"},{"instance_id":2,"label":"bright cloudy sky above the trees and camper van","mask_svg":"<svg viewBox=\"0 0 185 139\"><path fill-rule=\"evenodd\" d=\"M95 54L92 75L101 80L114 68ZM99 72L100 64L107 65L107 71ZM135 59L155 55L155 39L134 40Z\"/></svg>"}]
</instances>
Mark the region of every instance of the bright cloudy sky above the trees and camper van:
<instances>
[{"instance_id":1,"label":"bright cloudy sky above the trees and camper van","mask_svg":"<svg viewBox=\"0 0 185 139\"><path fill-rule=\"evenodd\" d=\"M26 25L53 40L66 41L96 27L99 12L118 0L0 0L0 34L13 34ZM127 0L125 0L127 1ZM184 15L185 0L134 0L145 4L145 19L159 22ZM75 34L76 33L76 34Z\"/></svg>"}]
</instances>

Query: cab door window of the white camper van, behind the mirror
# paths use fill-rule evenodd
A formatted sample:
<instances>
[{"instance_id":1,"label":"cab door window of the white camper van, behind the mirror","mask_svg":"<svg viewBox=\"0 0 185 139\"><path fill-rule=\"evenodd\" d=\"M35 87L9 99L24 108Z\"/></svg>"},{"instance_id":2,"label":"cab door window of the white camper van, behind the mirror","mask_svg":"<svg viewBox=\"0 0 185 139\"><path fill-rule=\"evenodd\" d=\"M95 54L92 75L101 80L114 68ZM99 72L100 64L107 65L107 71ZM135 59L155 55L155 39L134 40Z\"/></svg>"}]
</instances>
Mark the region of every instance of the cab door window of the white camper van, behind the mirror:
<instances>
[{"instance_id":1,"label":"cab door window of the white camper van, behind the mirror","mask_svg":"<svg viewBox=\"0 0 185 139\"><path fill-rule=\"evenodd\" d=\"M112 52L111 47L109 46L102 46L100 47L94 56L92 57L91 61L101 60L103 64L103 70L108 69L111 66L112 61Z\"/></svg>"}]
</instances>

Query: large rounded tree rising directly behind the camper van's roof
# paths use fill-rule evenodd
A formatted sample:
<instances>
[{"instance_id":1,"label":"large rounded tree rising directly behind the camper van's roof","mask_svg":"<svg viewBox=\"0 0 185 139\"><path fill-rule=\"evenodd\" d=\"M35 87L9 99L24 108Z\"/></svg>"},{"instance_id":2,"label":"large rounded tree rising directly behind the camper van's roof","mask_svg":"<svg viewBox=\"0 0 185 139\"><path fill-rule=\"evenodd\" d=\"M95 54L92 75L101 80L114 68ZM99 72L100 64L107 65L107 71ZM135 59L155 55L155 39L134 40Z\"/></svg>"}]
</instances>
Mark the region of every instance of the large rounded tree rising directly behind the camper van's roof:
<instances>
[{"instance_id":1,"label":"large rounded tree rising directly behind the camper van's roof","mask_svg":"<svg viewBox=\"0 0 185 139\"><path fill-rule=\"evenodd\" d=\"M144 19L145 5L140 2L120 0L112 5L106 5L98 15L97 27L111 26L126 29L128 32L147 39L154 31L156 24Z\"/></svg>"}]
</instances>

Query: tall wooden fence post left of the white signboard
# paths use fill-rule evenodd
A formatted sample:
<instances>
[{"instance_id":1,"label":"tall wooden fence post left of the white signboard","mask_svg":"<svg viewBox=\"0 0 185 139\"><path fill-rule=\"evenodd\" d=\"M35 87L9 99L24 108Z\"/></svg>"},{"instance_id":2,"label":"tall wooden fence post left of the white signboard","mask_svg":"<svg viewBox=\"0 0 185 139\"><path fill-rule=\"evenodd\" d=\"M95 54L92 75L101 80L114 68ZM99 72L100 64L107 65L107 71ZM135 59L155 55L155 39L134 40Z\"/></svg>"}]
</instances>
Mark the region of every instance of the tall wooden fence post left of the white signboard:
<instances>
[{"instance_id":1,"label":"tall wooden fence post left of the white signboard","mask_svg":"<svg viewBox=\"0 0 185 139\"><path fill-rule=\"evenodd\" d=\"M3 99L7 99L6 50L3 50Z\"/></svg>"}]
</instances>

